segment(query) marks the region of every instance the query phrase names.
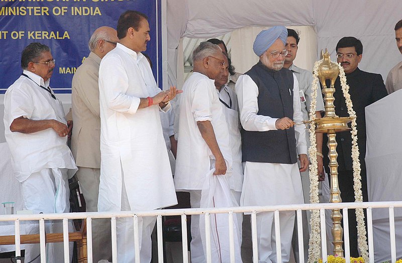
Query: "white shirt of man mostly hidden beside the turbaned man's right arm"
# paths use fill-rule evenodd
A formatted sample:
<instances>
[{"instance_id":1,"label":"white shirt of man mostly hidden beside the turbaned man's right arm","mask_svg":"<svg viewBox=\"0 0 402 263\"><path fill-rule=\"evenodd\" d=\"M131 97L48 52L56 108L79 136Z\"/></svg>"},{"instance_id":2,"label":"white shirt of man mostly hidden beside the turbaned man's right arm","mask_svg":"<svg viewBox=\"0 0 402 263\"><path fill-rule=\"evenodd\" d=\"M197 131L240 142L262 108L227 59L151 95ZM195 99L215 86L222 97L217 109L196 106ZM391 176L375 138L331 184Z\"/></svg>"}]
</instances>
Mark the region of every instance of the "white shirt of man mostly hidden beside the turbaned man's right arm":
<instances>
[{"instance_id":1,"label":"white shirt of man mostly hidden beside the turbaned man's right arm","mask_svg":"<svg viewBox=\"0 0 402 263\"><path fill-rule=\"evenodd\" d=\"M223 109L226 123L229 129L229 142L232 149L232 169L227 171L230 189L241 192L243 187L243 167L242 167L242 138L239 126L239 106L237 96L229 86L222 87L218 91L219 99L224 102Z\"/></svg>"}]
</instances>

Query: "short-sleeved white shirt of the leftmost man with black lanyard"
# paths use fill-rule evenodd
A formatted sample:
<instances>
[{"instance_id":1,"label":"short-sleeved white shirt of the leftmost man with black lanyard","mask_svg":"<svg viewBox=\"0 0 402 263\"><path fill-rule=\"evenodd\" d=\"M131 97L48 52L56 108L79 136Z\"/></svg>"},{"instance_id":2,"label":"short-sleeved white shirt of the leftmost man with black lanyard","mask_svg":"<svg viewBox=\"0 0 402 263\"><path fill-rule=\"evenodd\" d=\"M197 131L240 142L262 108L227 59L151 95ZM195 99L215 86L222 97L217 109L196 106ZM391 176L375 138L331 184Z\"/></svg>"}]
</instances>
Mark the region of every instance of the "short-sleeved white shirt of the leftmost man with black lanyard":
<instances>
[{"instance_id":1,"label":"short-sleeved white shirt of the leftmost man with black lanyard","mask_svg":"<svg viewBox=\"0 0 402 263\"><path fill-rule=\"evenodd\" d=\"M67 124L63 105L39 85L49 87L49 81L30 71L12 84L4 97L5 136L9 144L13 167L18 181L25 181L33 172L43 168L68 168L71 178L77 166L67 146L67 137L60 137L53 129L26 134L11 132L14 119L23 116L30 120L57 120Z\"/></svg>"}]
</instances>

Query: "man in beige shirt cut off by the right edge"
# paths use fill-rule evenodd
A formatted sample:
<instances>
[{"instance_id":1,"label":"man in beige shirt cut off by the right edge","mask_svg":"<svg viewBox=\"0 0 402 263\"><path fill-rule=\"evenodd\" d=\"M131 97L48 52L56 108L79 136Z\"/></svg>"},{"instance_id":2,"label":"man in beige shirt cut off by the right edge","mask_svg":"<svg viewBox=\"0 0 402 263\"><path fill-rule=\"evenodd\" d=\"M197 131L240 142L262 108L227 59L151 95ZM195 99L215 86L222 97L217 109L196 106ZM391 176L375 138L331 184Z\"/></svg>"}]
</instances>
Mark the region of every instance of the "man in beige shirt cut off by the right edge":
<instances>
[{"instance_id":1,"label":"man in beige shirt cut off by the right edge","mask_svg":"<svg viewBox=\"0 0 402 263\"><path fill-rule=\"evenodd\" d=\"M402 19L395 25L396 46L402 54ZM397 63L388 73L385 81L385 87L388 94L402 89L402 61Z\"/></svg>"}]
</instances>

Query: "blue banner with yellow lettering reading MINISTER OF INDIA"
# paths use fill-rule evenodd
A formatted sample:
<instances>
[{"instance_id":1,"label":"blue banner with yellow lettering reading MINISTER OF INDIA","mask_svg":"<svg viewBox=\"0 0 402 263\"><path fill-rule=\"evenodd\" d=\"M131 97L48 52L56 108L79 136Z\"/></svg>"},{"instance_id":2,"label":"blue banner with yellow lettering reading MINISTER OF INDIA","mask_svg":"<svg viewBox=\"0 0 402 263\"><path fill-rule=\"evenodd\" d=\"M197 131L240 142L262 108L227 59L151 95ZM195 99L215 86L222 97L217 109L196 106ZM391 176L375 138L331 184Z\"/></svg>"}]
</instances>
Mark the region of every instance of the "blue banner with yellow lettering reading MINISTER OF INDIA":
<instances>
[{"instance_id":1,"label":"blue banner with yellow lettering reading MINISTER OF INDIA","mask_svg":"<svg viewBox=\"0 0 402 263\"><path fill-rule=\"evenodd\" d=\"M117 27L120 15L136 10L148 16L147 53L162 87L160 0L0 0L0 94L21 75L21 52L32 42L50 47L56 67L50 86L71 93L75 70L88 56L88 41L101 26Z\"/></svg>"}]
</instances>

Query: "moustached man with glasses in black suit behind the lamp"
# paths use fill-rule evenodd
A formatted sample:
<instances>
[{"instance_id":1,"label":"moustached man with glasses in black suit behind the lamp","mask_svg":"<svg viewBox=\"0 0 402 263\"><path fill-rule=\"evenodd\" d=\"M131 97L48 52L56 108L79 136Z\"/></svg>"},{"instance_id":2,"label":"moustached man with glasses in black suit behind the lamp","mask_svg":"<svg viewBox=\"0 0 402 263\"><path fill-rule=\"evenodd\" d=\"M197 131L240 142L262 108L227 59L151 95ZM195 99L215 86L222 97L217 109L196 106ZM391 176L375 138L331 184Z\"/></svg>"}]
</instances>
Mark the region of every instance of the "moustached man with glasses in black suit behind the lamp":
<instances>
[{"instance_id":1,"label":"moustached man with glasses in black suit behind the lamp","mask_svg":"<svg viewBox=\"0 0 402 263\"><path fill-rule=\"evenodd\" d=\"M369 73L358 68L362 59L363 45L355 37L344 37L339 40L336 46L337 61L345 70L346 81L349 85L349 94L353 103L353 110L356 112L357 123L357 141L359 145L361 183L363 192L363 201L368 201L367 197L367 178L366 164L364 156L366 155L366 116L364 108L387 96L384 81L380 74ZM343 97L339 76L335 81L335 112L339 117L349 116L345 98ZM353 166L352 166L352 137L350 131L339 132L336 134L338 143L338 181L341 191L342 202L354 202L353 190ZM327 136L324 136L323 145L328 142ZM328 148L324 149L324 166L329 173ZM357 251L357 229L356 215L354 210L348 213L349 218L349 236L350 236L350 255L358 256Z\"/></svg>"}]
</instances>

